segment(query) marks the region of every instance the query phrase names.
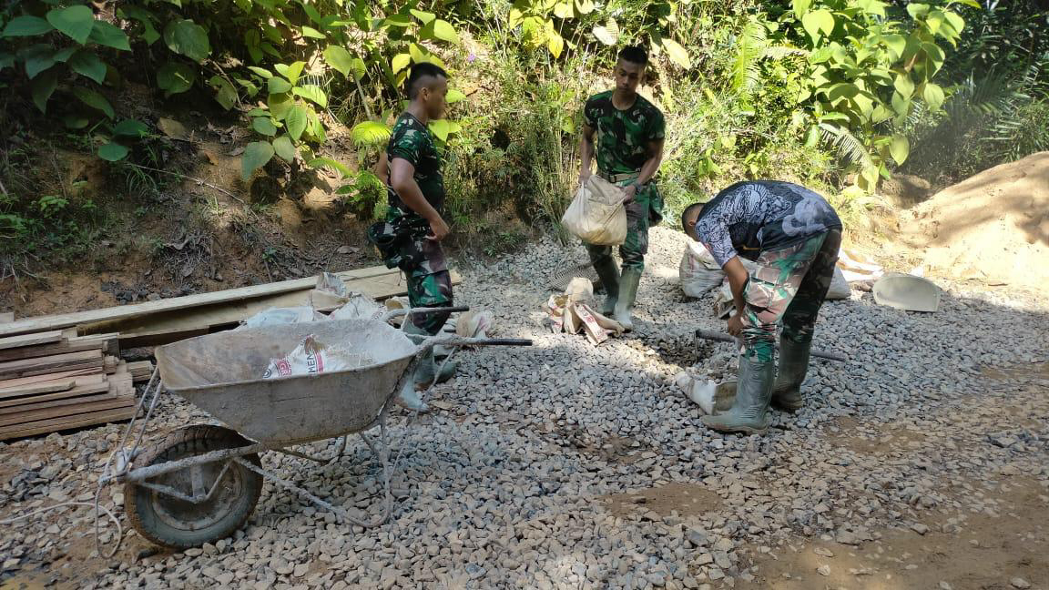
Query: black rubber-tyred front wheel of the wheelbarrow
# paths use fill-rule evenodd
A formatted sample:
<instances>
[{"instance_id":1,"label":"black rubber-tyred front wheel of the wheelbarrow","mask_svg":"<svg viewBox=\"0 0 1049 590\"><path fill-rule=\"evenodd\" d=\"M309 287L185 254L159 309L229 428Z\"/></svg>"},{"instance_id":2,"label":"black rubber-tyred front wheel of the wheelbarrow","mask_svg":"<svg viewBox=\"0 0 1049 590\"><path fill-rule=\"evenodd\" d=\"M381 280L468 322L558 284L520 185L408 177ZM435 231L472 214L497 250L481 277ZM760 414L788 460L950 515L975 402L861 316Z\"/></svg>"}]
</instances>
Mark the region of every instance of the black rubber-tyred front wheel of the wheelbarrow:
<instances>
[{"instance_id":1,"label":"black rubber-tyred front wheel of the wheelbarrow","mask_svg":"<svg viewBox=\"0 0 1049 590\"><path fill-rule=\"evenodd\" d=\"M170 433L160 444L136 459L135 465L145 467L249 444L234 430L199 424ZM261 466L258 455L242 459ZM262 477L236 462L227 463L226 473L222 473L223 463L206 463L147 481L194 496L210 491L221 475L212 497L200 503L128 482L124 487L124 508L131 526L147 540L174 549L199 547L233 534L255 511L262 493Z\"/></svg>"}]
</instances>

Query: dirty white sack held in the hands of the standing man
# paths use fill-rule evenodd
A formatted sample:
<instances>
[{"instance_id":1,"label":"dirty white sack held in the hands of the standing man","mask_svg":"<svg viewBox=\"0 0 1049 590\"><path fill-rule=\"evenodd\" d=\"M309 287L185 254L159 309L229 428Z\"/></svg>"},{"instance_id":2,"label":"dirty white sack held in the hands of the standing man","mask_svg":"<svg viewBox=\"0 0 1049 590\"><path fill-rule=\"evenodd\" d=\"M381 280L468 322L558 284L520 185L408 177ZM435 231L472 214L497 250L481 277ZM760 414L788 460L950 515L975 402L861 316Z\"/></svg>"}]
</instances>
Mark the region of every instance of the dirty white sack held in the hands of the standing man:
<instances>
[{"instance_id":1,"label":"dirty white sack held in the hands of the standing man","mask_svg":"<svg viewBox=\"0 0 1049 590\"><path fill-rule=\"evenodd\" d=\"M595 246L619 246L626 240L626 208L623 191L604 178L592 175L576 191L561 225L572 235Z\"/></svg>"}]
</instances>

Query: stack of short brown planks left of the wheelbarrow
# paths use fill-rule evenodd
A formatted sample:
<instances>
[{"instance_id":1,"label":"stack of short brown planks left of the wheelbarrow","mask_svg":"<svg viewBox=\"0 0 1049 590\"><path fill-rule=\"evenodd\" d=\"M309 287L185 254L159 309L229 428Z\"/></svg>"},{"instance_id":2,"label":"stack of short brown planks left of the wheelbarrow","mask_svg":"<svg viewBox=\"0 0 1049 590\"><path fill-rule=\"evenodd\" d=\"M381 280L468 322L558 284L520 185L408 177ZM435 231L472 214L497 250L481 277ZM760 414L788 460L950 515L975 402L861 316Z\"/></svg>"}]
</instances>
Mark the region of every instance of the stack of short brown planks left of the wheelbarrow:
<instances>
[{"instance_id":1,"label":"stack of short brown planks left of the wheelbarrow","mask_svg":"<svg viewBox=\"0 0 1049 590\"><path fill-rule=\"evenodd\" d=\"M131 418L152 363L117 352L116 334L76 329L0 338L0 440Z\"/></svg>"}]
</instances>

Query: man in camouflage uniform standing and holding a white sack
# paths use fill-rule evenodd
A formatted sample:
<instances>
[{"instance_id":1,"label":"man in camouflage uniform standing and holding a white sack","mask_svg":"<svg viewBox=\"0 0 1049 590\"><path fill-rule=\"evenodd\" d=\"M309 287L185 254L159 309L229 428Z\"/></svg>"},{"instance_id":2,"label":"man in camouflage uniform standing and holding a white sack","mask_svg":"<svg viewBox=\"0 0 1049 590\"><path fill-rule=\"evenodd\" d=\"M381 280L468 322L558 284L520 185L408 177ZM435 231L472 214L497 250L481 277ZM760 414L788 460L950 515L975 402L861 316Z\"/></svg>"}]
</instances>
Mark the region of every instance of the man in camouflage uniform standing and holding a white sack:
<instances>
[{"instance_id":1,"label":"man in camouflage uniform standing and holding a white sack","mask_svg":"<svg viewBox=\"0 0 1049 590\"><path fill-rule=\"evenodd\" d=\"M626 240L619 248L622 273L612 257L612 247L586 245L594 270L607 297L602 309L626 330L633 330L630 310L648 252L648 228L663 218L663 197L652 182L663 160L666 124L663 113L638 94L648 56L640 47L626 47L616 64L616 88L595 94L583 107L580 142L580 184L597 173L623 188L626 206Z\"/></svg>"}]
</instances>

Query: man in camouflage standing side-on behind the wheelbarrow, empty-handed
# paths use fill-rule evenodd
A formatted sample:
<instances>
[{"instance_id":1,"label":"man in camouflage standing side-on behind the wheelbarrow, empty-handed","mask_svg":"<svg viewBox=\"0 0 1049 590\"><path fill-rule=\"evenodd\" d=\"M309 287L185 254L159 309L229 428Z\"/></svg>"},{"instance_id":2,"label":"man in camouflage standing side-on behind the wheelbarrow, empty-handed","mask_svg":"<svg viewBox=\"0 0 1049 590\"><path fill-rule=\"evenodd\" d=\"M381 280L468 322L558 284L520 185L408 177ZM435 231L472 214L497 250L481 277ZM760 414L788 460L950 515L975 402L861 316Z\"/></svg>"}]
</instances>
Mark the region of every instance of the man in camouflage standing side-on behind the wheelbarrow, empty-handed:
<instances>
[{"instance_id":1,"label":"man in camouflage standing side-on behind the wheelbarrow, empty-handed","mask_svg":"<svg viewBox=\"0 0 1049 590\"><path fill-rule=\"evenodd\" d=\"M441 240L448 235L442 217L445 185L441 173L441 154L427 124L445 113L448 75L434 64L422 63L408 77L411 101L393 126L386 147L386 161L380 169L387 172L389 208L385 223L372 226L372 241L383 253L387 268L400 268L408 281L408 301L412 308L446 308L452 304L452 282ZM405 332L421 339L437 334L448 313L413 315ZM414 376L414 386L401 394L401 403L425 410L415 389L454 373L454 363L445 363L442 375L434 375L432 356L423 359ZM412 385L412 384L409 384Z\"/></svg>"}]
</instances>

